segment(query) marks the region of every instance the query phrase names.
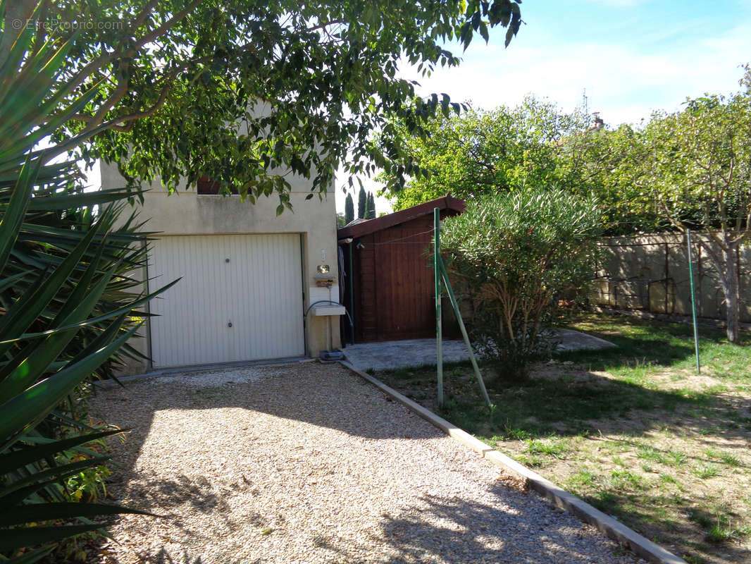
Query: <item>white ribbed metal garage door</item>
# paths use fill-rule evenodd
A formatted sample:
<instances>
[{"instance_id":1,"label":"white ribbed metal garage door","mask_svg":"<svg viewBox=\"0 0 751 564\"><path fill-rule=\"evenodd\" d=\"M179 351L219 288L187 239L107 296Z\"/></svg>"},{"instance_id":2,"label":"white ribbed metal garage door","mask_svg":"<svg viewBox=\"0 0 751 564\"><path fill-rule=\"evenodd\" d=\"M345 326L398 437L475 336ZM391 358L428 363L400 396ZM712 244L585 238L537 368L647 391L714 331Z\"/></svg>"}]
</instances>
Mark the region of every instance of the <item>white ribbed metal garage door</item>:
<instances>
[{"instance_id":1,"label":"white ribbed metal garage door","mask_svg":"<svg viewBox=\"0 0 751 564\"><path fill-rule=\"evenodd\" d=\"M152 244L155 367L304 353L300 235L189 235Z\"/></svg>"}]
</instances>

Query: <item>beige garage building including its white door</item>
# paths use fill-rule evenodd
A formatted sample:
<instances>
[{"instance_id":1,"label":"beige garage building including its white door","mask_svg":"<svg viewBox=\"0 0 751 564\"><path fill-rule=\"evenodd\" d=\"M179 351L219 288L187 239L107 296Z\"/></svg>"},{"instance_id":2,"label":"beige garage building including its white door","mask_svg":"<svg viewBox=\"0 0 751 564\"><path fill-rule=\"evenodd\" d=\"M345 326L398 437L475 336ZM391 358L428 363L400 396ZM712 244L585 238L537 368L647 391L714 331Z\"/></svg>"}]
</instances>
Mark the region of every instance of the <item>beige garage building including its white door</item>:
<instances>
[{"instance_id":1,"label":"beige garage building including its white door","mask_svg":"<svg viewBox=\"0 0 751 564\"><path fill-rule=\"evenodd\" d=\"M275 196L255 204L240 196L144 185L140 219L158 232L143 273L149 291L182 278L148 308L134 339L158 368L318 356L339 347L336 213L333 192L306 200L309 180L288 177L294 212L276 217ZM103 188L123 186L115 165L101 165ZM330 279L327 279L330 277ZM330 315L333 314L333 315Z\"/></svg>"}]
</instances>

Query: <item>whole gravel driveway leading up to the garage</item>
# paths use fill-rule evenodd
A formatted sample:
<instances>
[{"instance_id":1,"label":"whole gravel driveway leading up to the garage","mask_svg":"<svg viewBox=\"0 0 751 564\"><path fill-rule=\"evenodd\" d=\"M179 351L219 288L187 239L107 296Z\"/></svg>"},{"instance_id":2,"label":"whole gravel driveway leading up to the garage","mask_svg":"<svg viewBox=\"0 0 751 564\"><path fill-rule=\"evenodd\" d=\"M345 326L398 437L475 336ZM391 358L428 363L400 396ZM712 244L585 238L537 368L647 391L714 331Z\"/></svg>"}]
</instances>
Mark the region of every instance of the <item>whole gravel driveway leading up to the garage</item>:
<instances>
[{"instance_id":1,"label":"whole gravel driveway leading up to the garage","mask_svg":"<svg viewBox=\"0 0 751 564\"><path fill-rule=\"evenodd\" d=\"M339 365L130 381L101 562L641 562Z\"/></svg>"}]
</instances>

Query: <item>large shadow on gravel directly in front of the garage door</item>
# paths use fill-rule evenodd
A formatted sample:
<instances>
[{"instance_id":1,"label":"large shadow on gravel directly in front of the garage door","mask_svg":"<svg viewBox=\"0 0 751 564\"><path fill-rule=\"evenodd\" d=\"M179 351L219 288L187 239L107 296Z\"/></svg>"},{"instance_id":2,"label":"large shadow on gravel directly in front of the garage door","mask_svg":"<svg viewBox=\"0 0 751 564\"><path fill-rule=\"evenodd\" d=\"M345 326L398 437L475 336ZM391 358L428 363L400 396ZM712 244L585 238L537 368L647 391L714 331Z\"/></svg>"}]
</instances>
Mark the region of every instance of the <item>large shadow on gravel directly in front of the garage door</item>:
<instances>
[{"instance_id":1,"label":"large shadow on gravel directly in front of the garage door","mask_svg":"<svg viewBox=\"0 0 751 564\"><path fill-rule=\"evenodd\" d=\"M263 368L253 368L259 370ZM159 411L190 411L217 408L242 408L302 421L348 435L371 439L433 438L444 434L429 425L415 435L403 426L401 417L383 417L383 408L403 411L407 417L419 417L376 390L371 384L340 365L306 363L290 367L270 367L273 375L257 381L243 381L242 368L216 370L217 378L194 386L192 378L204 373L179 377L127 381L125 389L98 390L92 401L92 413L114 425L133 428L128 441L143 441L149 433L152 417ZM332 378L332 375L334 378ZM126 407L127 406L127 407ZM110 412L118 417L113 418ZM249 429L252 432L252 429Z\"/></svg>"}]
</instances>

